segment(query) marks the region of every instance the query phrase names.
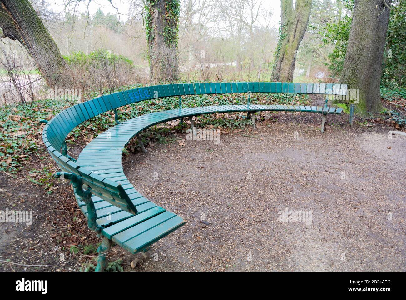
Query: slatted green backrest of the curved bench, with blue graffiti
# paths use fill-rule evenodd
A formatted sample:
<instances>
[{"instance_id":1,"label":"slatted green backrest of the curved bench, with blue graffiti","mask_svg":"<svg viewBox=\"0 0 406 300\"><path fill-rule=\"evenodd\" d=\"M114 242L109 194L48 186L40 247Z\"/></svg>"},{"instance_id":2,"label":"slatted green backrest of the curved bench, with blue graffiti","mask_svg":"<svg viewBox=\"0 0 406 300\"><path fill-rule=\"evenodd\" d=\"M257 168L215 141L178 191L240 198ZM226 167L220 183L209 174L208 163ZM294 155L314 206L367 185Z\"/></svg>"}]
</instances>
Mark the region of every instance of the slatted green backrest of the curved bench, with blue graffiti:
<instances>
[{"instance_id":1,"label":"slatted green backrest of the curved bench, with blue graffiti","mask_svg":"<svg viewBox=\"0 0 406 300\"><path fill-rule=\"evenodd\" d=\"M60 153L67 135L79 124L96 115L111 111L127 104L153 98L171 96L202 95L216 93L347 93L347 85L333 83L271 83L271 82L233 82L233 83L175 83L138 87L100 96L61 111L43 129L43 141L48 152L61 170L82 177L84 186L92 193L117 207L136 213L134 204L123 187L112 180L102 178L95 172L80 167ZM97 153L95 154L97 155Z\"/></svg>"}]
</instances>

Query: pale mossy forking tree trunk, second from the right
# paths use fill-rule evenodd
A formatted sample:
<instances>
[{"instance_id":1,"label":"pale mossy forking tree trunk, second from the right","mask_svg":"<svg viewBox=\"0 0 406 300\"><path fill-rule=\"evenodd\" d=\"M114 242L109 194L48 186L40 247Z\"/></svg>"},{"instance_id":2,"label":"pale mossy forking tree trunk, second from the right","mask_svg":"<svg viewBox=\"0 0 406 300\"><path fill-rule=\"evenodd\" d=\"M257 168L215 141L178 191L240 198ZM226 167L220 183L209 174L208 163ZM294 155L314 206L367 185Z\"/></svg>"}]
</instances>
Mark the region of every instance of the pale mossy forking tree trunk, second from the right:
<instances>
[{"instance_id":1,"label":"pale mossy forking tree trunk, second from the right","mask_svg":"<svg viewBox=\"0 0 406 300\"><path fill-rule=\"evenodd\" d=\"M276 47L271 81L292 81L300 42L306 32L311 0L281 0L281 30Z\"/></svg>"}]
</instances>

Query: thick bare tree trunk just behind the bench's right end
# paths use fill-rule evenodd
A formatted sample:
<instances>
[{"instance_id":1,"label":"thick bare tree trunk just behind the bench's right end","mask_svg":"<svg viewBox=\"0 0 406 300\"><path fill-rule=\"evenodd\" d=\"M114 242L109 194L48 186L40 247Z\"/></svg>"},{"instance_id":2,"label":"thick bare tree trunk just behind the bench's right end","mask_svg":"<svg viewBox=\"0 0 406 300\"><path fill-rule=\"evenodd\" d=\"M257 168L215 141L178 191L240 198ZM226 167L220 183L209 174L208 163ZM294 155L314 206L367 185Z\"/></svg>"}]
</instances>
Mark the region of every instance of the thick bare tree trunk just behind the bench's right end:
<instances>
[{"instance_id":1,"label":"thick bare tree trunk just behind the bench's right end","mask_svg":"<svg viewBox=\"0 0 406 300\"><path fill-rule=\"evenodd\" d=\"M391 0L355 0L340 83L359 89L362 113L382 110L380 78Z\"/></svg>"}]
</instances>

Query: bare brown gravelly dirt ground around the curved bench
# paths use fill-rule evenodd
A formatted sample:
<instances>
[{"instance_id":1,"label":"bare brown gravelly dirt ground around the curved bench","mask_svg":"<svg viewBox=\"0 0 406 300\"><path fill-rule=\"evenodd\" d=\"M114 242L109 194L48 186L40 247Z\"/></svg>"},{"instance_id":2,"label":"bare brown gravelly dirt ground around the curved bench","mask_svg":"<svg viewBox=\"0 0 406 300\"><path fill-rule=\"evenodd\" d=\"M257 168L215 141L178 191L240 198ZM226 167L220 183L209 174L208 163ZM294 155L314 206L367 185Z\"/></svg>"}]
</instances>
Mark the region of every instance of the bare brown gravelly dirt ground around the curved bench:
<instances>
[{"instance_id":1,"label":"bare brown gravelly dirt ground around the curved bench","mask_svg":"<svg viewBox=\"0 0 406 300\"><path fill-rule=\"evenodd\" d=\"M151 246L153 258L114 247L110 261L123 259L126 271L405 271L406 137L388 139L381 124L349 127L348 115L329 115L325 133L318 114L262 119L256 130L222 133L219 144L156 143L126 157L134 187L187 223ZM48 195L21 185L0 174L12 194L1 207L34 211L30 226L0 224L0 270L71 271L91 261L64 248L97 243L72 221L81 213L69 186ZM285 210L309 218L284 222Z\"/></svg>"}]
</instances>

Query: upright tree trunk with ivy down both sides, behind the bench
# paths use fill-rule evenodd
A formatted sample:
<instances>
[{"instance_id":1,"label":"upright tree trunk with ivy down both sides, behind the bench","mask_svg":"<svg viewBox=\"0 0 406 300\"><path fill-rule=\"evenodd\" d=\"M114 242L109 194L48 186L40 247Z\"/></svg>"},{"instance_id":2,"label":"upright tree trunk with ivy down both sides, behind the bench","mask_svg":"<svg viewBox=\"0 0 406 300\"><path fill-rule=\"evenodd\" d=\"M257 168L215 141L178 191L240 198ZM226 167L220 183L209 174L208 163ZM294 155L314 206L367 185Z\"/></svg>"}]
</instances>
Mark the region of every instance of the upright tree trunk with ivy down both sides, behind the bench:
<instances>
[{"instance_id":1,"label":"upright tree trunk with ivy down both sides, behind the bench","mask_svg":"<svg viewBox=\"0 0 406 300\"><path fill-rule=\"evenodd\" d=\"M147 0L149 78L154 84L179 79L179 6L179 0Z\"/></svg>"}]
</instances>

